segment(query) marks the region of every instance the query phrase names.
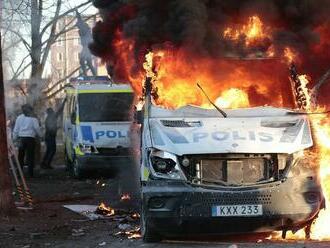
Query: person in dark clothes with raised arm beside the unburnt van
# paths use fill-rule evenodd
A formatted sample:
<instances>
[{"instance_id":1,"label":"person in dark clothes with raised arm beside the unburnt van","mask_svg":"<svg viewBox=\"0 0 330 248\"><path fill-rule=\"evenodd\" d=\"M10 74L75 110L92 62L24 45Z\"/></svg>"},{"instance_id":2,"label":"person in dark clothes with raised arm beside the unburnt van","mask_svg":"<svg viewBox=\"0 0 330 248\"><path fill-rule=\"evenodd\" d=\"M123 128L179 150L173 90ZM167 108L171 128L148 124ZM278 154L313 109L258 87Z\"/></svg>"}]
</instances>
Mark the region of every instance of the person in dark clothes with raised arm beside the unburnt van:
<instances>
[{"instance_id":1,"label":"person in dark clothes with raised arm beside the unburnt van","mask_svg":"<svg viewBox=\"0 0 330 248\"><path fill-rule=\"evenodd\" d=\"M61 107L56 112L52 108L46 110L47 117L45 121L45 144L46 153L41 162L42 169L52 169L51 162L56 153L56 135L57 135L57 118L62 114L66 100L63 101Z\"/></svg>"}]
</instances>

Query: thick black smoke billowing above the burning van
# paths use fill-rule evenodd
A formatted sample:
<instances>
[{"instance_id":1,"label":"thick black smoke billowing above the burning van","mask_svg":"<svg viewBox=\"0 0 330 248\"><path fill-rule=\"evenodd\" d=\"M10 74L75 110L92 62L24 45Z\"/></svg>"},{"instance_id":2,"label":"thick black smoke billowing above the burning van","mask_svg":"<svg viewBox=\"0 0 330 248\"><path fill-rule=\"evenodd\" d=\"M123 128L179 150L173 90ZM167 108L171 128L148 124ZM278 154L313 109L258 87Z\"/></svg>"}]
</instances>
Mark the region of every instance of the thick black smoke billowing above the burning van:
<instances>
[{"instance_id":1,"label":"thick black smoke billowing above the burning van","mask_svg":"<svg viewBox=\"0 0 330 248\"><path fill-rule=\"evenodd\" d=\"M136 66L131 70L138 71L148 50L166 46L185 49L193 57L222 58L232 51L246 55L240 44L233 45L221 34L252 15L273 29L272 40L255 50L264 52L273 45L280 56L285 47L292 47L303 57L300 69L313 78L330 67L328 51L312 50L321 42L317 28L330 25L330 0L94 0L94 5L103 21L94 28L90 48L117 75L125 74L113 45L118 30L135 41Z\"/></svg>"}]
</instances>

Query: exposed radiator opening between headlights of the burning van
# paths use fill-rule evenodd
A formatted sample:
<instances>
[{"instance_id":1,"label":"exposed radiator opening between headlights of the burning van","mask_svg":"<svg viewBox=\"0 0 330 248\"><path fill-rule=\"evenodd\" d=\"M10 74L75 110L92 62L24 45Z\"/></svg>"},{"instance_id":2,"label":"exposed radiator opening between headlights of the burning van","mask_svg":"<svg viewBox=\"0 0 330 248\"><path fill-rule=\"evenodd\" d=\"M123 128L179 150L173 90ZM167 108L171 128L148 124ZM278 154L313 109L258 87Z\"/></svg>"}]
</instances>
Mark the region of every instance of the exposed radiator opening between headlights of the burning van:
<instances>
[{"instance_id":1,"label":"exposed radiator opening between headlights of the burning van","mask_svg":"<svg viewBox=\"0 0 330 248\"><path fill-rule=\"evenodd\" d=\"M182 169L188 180L196 184L240 186L278 179L277 155L206 155L191 156L189 160L189 167Z\"/></svg>"}]
</instances>

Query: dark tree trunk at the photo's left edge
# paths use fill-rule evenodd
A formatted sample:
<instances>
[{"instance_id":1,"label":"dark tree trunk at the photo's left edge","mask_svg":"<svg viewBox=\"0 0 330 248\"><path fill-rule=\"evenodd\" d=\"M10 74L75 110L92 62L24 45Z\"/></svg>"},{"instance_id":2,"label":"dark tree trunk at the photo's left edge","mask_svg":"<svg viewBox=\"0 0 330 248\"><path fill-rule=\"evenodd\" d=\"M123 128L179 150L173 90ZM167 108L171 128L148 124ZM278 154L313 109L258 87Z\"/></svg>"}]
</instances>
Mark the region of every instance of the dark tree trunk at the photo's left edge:
<instances>
[{"instance_id":1,"label":"dark tree trunk at the photo's left edge","mask_svg":"<svg viewBox=\"0 0 330 248\"><path fill-rule=\"evenodd\" d=\"M11 177L8 166L8 147L6 132L5 94L2 74L1 34L0 34L0 215L14 213Z\"/></svg>"}]
</instances>

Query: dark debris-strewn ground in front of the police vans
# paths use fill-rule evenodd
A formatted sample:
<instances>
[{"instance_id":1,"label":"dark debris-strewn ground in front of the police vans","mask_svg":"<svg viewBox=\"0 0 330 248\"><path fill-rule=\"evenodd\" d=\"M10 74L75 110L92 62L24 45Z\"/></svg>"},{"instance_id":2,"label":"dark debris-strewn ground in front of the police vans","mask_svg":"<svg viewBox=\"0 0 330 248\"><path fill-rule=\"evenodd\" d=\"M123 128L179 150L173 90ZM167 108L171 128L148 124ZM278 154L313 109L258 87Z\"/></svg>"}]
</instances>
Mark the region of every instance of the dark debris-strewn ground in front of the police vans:
<instances>
[{"instance_id":1,"label":"dark debris-strewn ground in front of the police vans","mask_svg":"<svg viewBox=\"0 0 330 248\"><path fill-rule=\"evenodd\" d=\"M141 239L128 239L116 235L118 221L95 220L62 207L67 204L92 204L104 202L114 208L139 211L138 184L120 185L113 175L108 178L75 180L69 177L62 165L54 170L38 170L36 178L28 184L36 202L32 211L19 211L14 219L0 220L0 247L330 247L330 242L267 240L265 236L240 235L223 237L187 238L146 244ZM102 175L104 175L102 173ZM110 176L110 177L109 177ZM124 180L125 181L125 180ZM120 201L122 193L129 192L131 199Z\"/></svg>"}]
</instances>

